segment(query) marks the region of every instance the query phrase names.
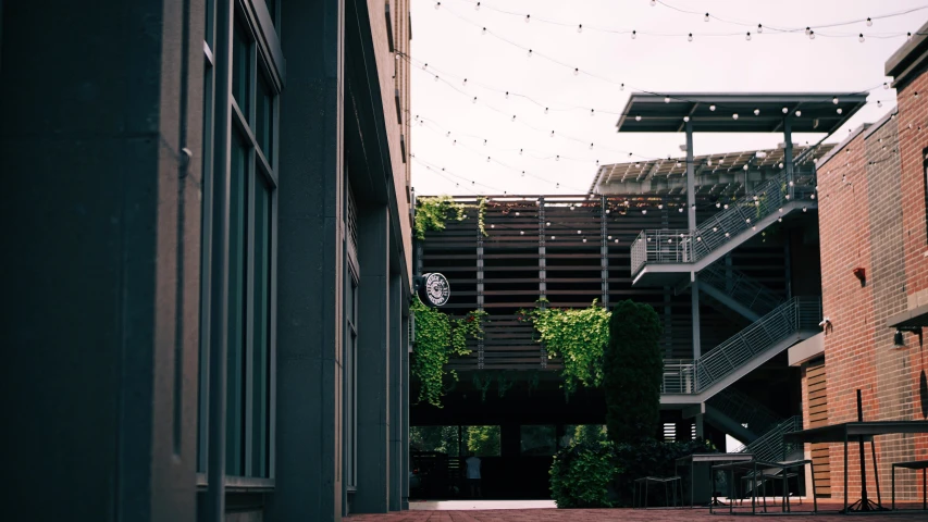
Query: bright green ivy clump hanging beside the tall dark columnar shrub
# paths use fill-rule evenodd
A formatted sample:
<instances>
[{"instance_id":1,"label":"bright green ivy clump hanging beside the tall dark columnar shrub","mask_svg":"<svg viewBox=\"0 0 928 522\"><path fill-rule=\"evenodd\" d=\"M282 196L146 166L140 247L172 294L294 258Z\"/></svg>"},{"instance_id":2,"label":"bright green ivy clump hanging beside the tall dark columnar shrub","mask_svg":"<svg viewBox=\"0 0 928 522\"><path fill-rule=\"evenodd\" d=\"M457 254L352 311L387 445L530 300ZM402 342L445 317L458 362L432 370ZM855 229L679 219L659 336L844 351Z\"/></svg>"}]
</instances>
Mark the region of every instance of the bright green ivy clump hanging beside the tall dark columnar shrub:
<instances>
[{"instance_id":1,"label":"bright green ivy clump hanging beside the tall dark columnar shrub","mask_svg":"<svg viewBox=\"0 0 928 522\"><path fill-rule=\"evenodd\" d=\"M570 395L578 384L599 386L603 380L603 348L609 341L609 311L596 304L589 308L536 308L520 311L544 343L548 357L564 359L564 390Z\"/></svg>"}]
</instances>

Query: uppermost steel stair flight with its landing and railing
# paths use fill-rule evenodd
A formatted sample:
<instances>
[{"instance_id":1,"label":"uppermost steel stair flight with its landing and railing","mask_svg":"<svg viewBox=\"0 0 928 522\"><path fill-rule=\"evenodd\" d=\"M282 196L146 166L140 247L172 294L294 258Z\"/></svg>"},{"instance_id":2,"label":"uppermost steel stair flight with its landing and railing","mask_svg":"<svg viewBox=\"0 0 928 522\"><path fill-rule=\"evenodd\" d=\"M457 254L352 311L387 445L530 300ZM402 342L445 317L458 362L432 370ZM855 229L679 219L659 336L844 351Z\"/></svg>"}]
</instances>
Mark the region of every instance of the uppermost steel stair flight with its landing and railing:
<instances>
[{"instance_id":1,"label":"uppermost steel stair flight with its landing and railing","mask_svg":"<svg viewBox=\"0 0 928 522\"><path fill-rule=\"evenodd\" d=\"M739 245L794 211L816 208L815 177L785 173L754 187L695 231L642 231L632 244L632 284L665 285L702 272Z\"/></svg>"}]
</instances>

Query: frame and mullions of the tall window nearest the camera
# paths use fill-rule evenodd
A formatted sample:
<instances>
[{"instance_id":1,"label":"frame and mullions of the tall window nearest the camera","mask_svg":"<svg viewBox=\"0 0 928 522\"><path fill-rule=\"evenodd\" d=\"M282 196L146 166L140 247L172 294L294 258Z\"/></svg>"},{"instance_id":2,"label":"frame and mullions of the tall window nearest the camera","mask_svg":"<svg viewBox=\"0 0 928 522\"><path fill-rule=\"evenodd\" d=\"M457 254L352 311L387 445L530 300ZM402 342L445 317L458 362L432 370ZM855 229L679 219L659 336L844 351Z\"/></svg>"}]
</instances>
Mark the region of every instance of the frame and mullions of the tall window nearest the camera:
<instances>
[{"instance_id":1,"label":"frame and mullions of the tall window nearest the camera","mask_svg":"<svg viewBox=\"0 0 928 522\"><path fill-rule=\"evenodd\" d=\"M237 100L234 92L234 86L224 78L216 77L215 64L222 52L222 58L226 58L233 67L237 64L232 63L234 55L234 46L228 49L218 49L216 35L223 32L218 30L216 8L221 7L219 2L227 2L226 15L231 20L231 34L228 40L235 41L239 34L248 41L248 51L246 60L248 60L248 77L244 78L247 82L248 100ZM230 384L244 387L244 400L242 403L244 417L242 436L242 459L240 475L230 475L226 470L225 476L235 484L236 488L260 488L267 489L273 487L275 476L276 448L276 296L277 296L277 213L279 213L279 178L276 164L279 157L280 144L280 95L284 86L283 72L283 52L280 46L280 37L276 23L280 20L281 1L277 0L275 16L272 20L268 12L264 0L207 0L206 2L206 32L203 40L203 59L205 59L205 79L203 79L203 172L202 172L202 258L201 258L201 310L200 310L200 369L199 369L199 412L198 412L198 428L197 436L198 456L197 456L197 472L198 485L206 486L208 476L209 462L209 408L214 403L214 399L210 396L210 363L208 361L213 357L220 357L219 353L213 353L211 350L211 338L216 334L210 332L213 325L212 315L220 313L222 306L214 306L211 302L214 296L214 286L223 284L230 278L228 273L223 273L221 259L214 259L213 243L218 234L222 234L223 229L228 229L230 215L226 209L224 217L213 215L214 202L216 198L222 198L230 194L231 187L230 174L232 161L226 162L226 172L214 172L214 163L218 154L231 154L232 144L234 140L240 140L246 149L244 175L245 175L245 216L244 216L244 234L245 241L242 245L244 252L230 252L228 238L223 238L225 243L224 256L244 256L244 291L240 296L242 309L244 309L244 318L233 318L231 310L236 307L230 307L227 318L228 322L243 321L243 353L242 365L244 369L243 375L239 376L240 383L226 383L226 388ZM225 10L223 9L223 11ZM228 18L225 18L228 20ZM224 23L224 22L223 22ZM224 36L224 35L223 35ZM270 127L267 129L270 133L268 140L268 150L262 148L262 144L258 141L258 125L257 111L258 103L265 103L263 91L259 94L259 75L263 76L264 84L272 96L270 107ZM232 77L232 74L230 74ZM216 107L216 99L222 97L216 96L225 94L228 99L228 108ZM248 111L243 112L239 107L239 101L244 101ZM216 117L225 114L225 110L230 111L231 127L226 136L216 135ZM237 135L237 137L236 137ZM269 160L270 157L270 160ZM262 177L258 177L262 176ZM265 198L261 203L262 216L257 215L258 198ZM224 221L219 223L218 221ZM259 221L260 220L260 221ZM256 302L256 291L259 288L256 282L256 226L261 224L268 229L262 231L263 243L267 245L267 258L262 260L260 277L267 277L267 281L261 283L261 303ZM216 252L219 253L219 252ZM267 264L265 264L267 263ZM267 310L257 310L257 307L268 307ZM267 314L267 315L261 315ZM267 324L258 325L257 320L260 319L263 323L267 319ZM232 324L227 324L226 328L232 331ZM262 330L262 332L258 332ZM257 334L263 334L265 338L267 353L256 353ZM258 339L258 341L262 341ZM224 351L222 356L228 357L228 346L220 347L219 351ZM263 361L256 361L256 356L260 356ZM227 363L230 363L227 361ZM259 364L265 364L260 366ZM255 380L256 368L262 370L262 388L260 394L256 394ZM228 375L226 375L228 378ZM265 401L267 411L256 413L256 396ZM227 419L228 403L223 417ZM263 433L265 437L261 443L255 431L260 430L256 426L256 415L260 417L261 422L267 422L267 428ZM226 432L231 426L226 422ZM226 435L227 436L227 435ZM262 448L256 448L256 442L261 443ZM226 440L226 447L230 447L230 442ZM260 453L256 455L256 451ZM256 462L257 458L257 462ZM261 473L256 476L256 473Z\"/></svg>"}]
</instances>

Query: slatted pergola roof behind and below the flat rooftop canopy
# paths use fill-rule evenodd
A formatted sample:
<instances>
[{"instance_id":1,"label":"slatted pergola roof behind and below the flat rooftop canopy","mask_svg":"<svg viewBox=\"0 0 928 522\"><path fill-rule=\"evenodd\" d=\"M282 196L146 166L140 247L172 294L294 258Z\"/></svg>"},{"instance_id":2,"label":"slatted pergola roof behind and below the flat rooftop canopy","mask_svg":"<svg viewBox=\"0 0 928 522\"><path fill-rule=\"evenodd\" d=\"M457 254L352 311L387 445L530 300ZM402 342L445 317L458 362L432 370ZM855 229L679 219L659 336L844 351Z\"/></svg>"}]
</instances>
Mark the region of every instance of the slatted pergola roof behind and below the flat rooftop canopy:
<instances>
[{"instance_id":1,"label":"slatted pergola roof behind and below the flat rooftop canopy","mask_svg":"<svg viewBox=\"0 0 928 522\"><path fill-rule=\"evenodd\" d=\"M828 154L834 144L818 144L812 146L793 146L793 156L799 160L797 166L808 164ZM812 149L812 150L809 150ZM758 157L758 152L762 152ZM784 149L782 147L768 150L748 150L740 152L720 152L715 154L697 156L693 158L696 167L696 185L712 188L700 182L701 177L710 177L718 174L741 173L744 165L750 171L772 170L779 171L779 164L783 161ZM591 194L599 192L599 188L606 185L626 182L644 182L648 179L661 181L669 178L685 178L686 159L668 158L660 160L631 161L627 163L614 163L603 165L596 171L596 176L590 186Z\"/></svg>"}]
</instances>

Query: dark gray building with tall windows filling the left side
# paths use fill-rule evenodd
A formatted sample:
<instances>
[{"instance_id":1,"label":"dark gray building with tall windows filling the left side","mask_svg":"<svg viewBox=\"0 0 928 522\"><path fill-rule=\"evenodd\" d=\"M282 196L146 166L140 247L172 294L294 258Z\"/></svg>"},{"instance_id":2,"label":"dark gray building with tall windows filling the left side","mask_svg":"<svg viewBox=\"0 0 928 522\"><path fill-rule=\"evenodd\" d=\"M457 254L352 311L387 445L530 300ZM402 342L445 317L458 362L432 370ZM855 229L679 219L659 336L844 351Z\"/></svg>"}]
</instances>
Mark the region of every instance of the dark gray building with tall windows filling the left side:
<instances>
[{"instance_id":1,"label":"dark gray building with tall windows filling the left side","mask_svg":"<svg viewBox=\"0 0 928 522\"><path fill-rule=\"evenodd\" d=\"M0 2L4 518L406 508L408 11Z\"/></svg>"}]
</instances>

